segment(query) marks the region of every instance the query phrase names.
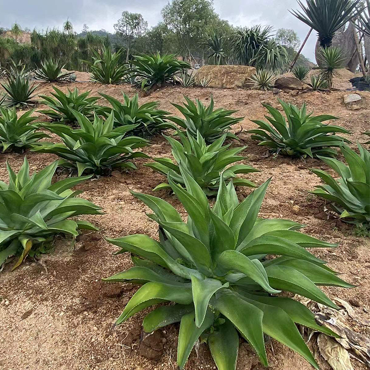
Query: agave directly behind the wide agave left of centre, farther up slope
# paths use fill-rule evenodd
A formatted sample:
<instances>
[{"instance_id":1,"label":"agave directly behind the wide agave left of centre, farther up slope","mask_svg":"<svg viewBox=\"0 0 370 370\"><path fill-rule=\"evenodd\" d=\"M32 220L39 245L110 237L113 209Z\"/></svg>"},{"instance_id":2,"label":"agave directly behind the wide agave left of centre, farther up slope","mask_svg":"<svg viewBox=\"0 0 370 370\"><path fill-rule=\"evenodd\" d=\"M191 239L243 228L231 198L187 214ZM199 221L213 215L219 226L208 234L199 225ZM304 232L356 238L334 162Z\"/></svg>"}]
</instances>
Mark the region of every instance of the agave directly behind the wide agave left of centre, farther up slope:
<instances>
[{"instance_id":1,"label":"agave directly behind the wide agave left of centre, farther up slope","mask_svg":"<svg viewBox=\"0 0 370 370\"><path fill-rule=\"evenodd\" d=\"M55 99L48 95L40 95L43 99L40 103L47 105L50 109L39 112L48 115L55 121L74 123L76 122L76 117L72 110L78 111L88 118L93 118L93 112L101 109L100 106L95 104L100 97L88 97L91 90L80 94L78 89L74 88L74 91L68 89L68 93L65 94L55 86L53 86L53 89L55 92L52 92L51 95Z\"/></svg>"}]
</instances>

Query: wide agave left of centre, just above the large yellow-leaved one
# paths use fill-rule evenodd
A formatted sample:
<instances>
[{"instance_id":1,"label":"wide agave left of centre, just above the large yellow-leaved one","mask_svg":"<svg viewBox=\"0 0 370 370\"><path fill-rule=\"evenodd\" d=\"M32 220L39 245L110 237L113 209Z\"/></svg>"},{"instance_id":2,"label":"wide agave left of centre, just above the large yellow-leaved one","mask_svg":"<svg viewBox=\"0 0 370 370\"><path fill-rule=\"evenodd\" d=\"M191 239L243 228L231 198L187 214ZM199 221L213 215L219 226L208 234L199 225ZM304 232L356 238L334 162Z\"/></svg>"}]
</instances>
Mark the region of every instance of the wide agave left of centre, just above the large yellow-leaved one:
<instances>
[{"instance_id":1,"label":"wide agave left of centre, just above the large yellow-leaved one","mask_svg":"<svg viewBox=\"0 0 370 370\"><path fill-rule=\"evenodd\" d=\"M86 170L96 175L104 175L113 168L131 168L130 162L137 157L148 158L147 154L134 151L148 146L148 140L131 136L124 138L126 132L137 125L126 125L113 129L113 112L106 121L94 115L91 122L83 114L73 111L80 129L73 129L62 124L43 124L53 134L58 135L64 144L39 143L32 149L41 153L53 153L62 158L59 165L76 168L78 176Z\"/></svg>"}]
</instances>

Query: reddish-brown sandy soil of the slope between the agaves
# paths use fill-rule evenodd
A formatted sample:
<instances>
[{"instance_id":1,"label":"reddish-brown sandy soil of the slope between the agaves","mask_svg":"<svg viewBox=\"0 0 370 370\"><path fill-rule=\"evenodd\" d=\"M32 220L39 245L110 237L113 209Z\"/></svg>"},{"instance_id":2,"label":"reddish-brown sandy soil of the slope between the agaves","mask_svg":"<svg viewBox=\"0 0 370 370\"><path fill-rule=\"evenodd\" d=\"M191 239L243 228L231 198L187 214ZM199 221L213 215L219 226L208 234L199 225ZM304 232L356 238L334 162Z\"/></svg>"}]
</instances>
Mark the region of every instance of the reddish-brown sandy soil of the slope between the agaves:
<instances>
[{"instance_id":1,"label":"reddish-brown sandy soil of the slope between the agaves","mask_svg":"<svg viewBox=\"0 0 370 370\"><path fill-rule=\"evenodd\" d=\"M121 90L132 96L135 90L130 86L104 86L97 83L74 83L61 85L77 86L80 91L92 90L108 93L122 100ZM50 84L40 84L39 94L48 93ZM181 103L183 94L209 102L213 94L215 105L226 109L239 110L246 116L239 127L244 130L255 127L250 119L263 118L265 113L260 102L270 102L277 106L276 97L271 92L251 90L216 90L167 87L141 96L140 102L157 100L160 108L176 113L171 102ZM365 104L356 110L342 105L342 92L310 92L296 97L281 93L279 97L294 103L306 101L308 109L315 113L328 113L340 117L338 124L353 132L351 140L364 141L361 132L370 127L370 93L361 93ZM104 104L102 99L101 104ZM46 120L45 116L40 117ZM314 250L313 253L329 261L330 267L343 273L348 282L358 285L351 290L325 288L329 296L340 296L355 305L361 319L370 319L370 239L354 235L353 228L324 212L323 201L310 196L307 190L319 183L309 168L326 166L313 159L306 162L291 158L266 156L265 148L258 147L250 135L240 134L241 144L248 145L245 154L247 163L262 170L247 175L248 179L261 184L273 176L263 202L262 217L286 218L307 226L305 233L323 240L339 243L336 249ZM152 156L170 155L166 141L157 136L152 146L145 148ZM25 153L33 170L56 159L49 154ZM18 170L24 154L0 154L0 180L6 180L5 162L9 160ZM126 324L113 327L114 320L133 295L136 287L129 284L106 284L102 277L124 270L131 265L127 254L113 256L114 246L103 239L134 233L156 236L156 224L149 220L148 209L134 198L129 189L151 193L151 189L164 180L160 174L143 166L144 159L137 160L138 170L112 177L88 181L79 186L82 196L103 208L103 216L86 217L97 224L100 233L84 233L73 245L71 240L57 239L55 251L42 256L39 261L27 260L15 272L7 268L0 275L0 369L12 370L146 370L175 369L176 340L178 325L164 328L155 336L140 341L141 322L144 313L138 314ZM243 199L249 188L239 188L238 195ZM179 210L179 202L168 192L161 191L163 197ZM298 208L293 206L296 205ZM368 313L367 313L368 312ZM368 330L352 323L355 331L369 334ZM276 370L312 369L299 355L272 340L267 344L270 365ZM144 356L143 356L144 355ZM316 352L322 369L328 364ZM365 369L358 362L354 368ZM205 345L193 350L185 369L215 369L209 350ZM238 370L263 369L247 343L240 346Z\"/></svg>"}]
</instances>

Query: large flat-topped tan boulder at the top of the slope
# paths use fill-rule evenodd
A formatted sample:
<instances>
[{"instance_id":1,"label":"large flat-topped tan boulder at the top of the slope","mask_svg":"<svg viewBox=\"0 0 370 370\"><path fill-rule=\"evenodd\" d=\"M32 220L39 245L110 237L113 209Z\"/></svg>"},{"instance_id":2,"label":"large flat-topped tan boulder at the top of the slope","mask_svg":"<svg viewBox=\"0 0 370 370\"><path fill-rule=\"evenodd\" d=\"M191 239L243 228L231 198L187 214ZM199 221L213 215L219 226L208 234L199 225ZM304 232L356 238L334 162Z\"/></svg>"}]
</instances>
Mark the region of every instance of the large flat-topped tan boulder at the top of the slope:
<instances>
[{"instance_id":1,"label":"large flat-topped tan boulder at the top of the slope","mask_svg":"<svg viewBox=\"0 0 370 370\"><path fill-rule=\"evenodd\" d=\"M203 66L198 70L197 77L211 78L209 87L220 89L250 88L253 86L250 77L256 72L256 68L249 66Z\"/></svg>"}]
</instances>

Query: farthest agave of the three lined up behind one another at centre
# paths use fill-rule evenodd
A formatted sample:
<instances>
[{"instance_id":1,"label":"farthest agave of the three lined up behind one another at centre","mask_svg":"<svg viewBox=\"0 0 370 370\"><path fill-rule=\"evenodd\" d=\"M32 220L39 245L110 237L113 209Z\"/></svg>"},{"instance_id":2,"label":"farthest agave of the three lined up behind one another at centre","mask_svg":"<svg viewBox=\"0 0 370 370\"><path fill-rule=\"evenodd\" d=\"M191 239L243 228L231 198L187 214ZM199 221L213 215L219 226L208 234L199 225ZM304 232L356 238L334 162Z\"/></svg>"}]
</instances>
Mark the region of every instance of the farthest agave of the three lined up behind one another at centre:
<instances>
[{"instance_id":1,"label":"farthest agave of the three lined up behind one another at centre","mask_svg":"<svg viewBox=\"0 0 370 370\"><path fill-rule=\"evenodd\" d=\"M196 138L198 132L207 143L212 143L220 138L225 131L231 128L232 125L243 120L244 117L231 117L231 114L237 111L226 111L223 108L214 110L214 101L211 95L211 103L206 108L203 103L196 99L196 105L186 96L184 107L178 104L172 104L185 117L168 117L169 120L176 123L180 127L188 130L189 133ZM231 132L227 132L227 137L237 139L237 136Z\"/></svg>"}]
</instances>

